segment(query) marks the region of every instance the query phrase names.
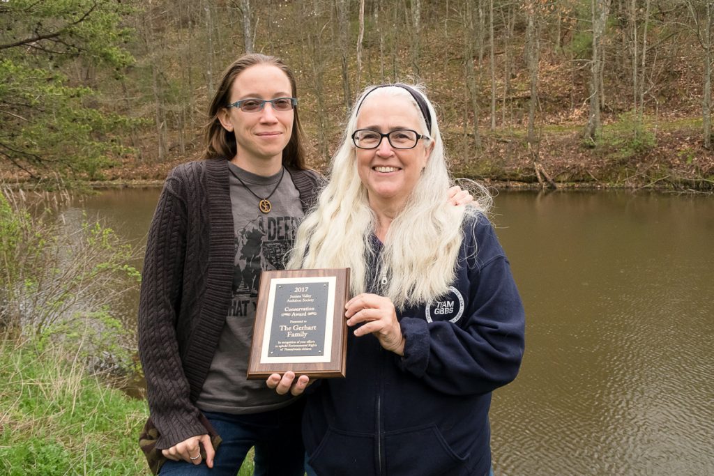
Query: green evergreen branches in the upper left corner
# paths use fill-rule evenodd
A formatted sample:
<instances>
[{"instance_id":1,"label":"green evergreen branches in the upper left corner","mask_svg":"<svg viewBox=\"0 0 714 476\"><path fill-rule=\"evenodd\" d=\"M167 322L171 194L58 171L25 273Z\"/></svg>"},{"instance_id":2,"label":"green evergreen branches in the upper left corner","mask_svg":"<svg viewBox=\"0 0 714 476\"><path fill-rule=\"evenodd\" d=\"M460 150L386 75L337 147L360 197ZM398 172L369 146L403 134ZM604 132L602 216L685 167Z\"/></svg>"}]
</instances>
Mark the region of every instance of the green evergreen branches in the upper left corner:
<instances>
[{"instance_id":1,"label":"green evergreen branches in the upper left corner","mask_svg":"<svg viewBox=\"0 0 714 476\"><path fill-rule=\"evenodd\" d=\"M0 6L0 158L33 176L97 178L126 152L133 123L104 111L94 90L69 71L109 69L119 77L133 58L121 48L131 9L114 1L13 0Z\"/></svg>"}]
</instances>

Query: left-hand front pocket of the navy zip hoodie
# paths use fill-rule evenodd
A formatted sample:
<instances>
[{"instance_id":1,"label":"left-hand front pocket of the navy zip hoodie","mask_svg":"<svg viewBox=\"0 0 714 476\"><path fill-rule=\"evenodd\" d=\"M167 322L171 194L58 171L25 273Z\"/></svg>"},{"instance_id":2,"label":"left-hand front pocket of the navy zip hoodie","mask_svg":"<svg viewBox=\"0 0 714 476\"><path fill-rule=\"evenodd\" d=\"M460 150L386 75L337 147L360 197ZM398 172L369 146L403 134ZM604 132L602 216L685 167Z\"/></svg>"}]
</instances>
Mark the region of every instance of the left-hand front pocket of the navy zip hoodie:
<instances>
[{"instance_id":1,"label":"left-hand front pocket of the navy zip hoodie","mask_svg":"<svg viewBox=\"0 0 714 476\"><path fill-rule=\"evenodd\" d=\"M329 427L308 463L318 475L373 475L374 437Z\"/></svg>"}]
</instances>

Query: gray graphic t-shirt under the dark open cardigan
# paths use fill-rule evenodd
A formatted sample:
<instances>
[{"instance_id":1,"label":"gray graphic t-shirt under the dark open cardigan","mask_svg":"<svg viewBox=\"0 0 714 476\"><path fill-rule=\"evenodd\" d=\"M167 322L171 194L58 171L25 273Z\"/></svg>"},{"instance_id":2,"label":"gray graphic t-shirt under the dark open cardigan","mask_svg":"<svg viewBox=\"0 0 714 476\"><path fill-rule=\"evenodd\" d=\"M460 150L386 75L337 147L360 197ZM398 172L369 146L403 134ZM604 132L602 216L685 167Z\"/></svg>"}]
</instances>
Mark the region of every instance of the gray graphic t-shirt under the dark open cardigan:
<instances>
[{"instance_id":1,"label":"gray graphic t-shirt under the dark open cardigan","mask_svg":"<svg viewBox=\"0 0 714 476\"><path fill-rule=\"evenodd\" d=\"M228 167L261 198L270 195L276 186L278 188L269 198L271 211L263 213L258 208L258 198L231 173L231 205L236 237L233 299L211 370L196 405L209 412L263 412L286 405L291 397L277 395L275 390L266 387L265 380L246 379L258 283L261 270L283 269L283 260L292 248L298 224L303 218L303 208L288 171L285 171L281 181L281 173L261 177L232 163Z\"/></svg>"}]
</instances>

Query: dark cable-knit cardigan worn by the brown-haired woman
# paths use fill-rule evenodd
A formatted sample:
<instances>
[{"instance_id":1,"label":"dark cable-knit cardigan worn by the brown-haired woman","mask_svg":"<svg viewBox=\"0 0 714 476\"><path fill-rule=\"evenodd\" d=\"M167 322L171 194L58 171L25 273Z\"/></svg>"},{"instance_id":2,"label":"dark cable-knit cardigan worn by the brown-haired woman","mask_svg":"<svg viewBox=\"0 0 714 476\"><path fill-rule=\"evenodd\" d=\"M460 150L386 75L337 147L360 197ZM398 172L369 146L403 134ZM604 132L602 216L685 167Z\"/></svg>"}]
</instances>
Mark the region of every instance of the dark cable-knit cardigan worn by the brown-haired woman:
<instances>
[{"instance_id":1,"label":"dark cable-knit cardigan worn by the brown-haired woman","mask_svg":"<svg viewBox=\"0 0 714 476\"><path fill-rule=\"evenodd\" d=\"M307 211L320 176L286 170ZM228 314L233 240L228 161L174 168L149 229L139 301L139 357L159 450L207 432L193 402Z\"/></svg>"}]
</instances>

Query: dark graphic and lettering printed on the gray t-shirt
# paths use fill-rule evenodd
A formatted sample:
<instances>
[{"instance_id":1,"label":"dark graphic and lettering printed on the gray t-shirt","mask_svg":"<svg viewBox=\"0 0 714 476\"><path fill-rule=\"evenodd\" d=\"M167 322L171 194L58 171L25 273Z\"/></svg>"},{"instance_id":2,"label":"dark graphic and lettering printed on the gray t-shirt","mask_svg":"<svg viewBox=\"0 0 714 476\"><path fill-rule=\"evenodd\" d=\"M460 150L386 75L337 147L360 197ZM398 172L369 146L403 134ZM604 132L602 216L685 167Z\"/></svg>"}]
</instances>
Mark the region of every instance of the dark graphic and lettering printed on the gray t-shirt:
<instances>
[{"instance_id":1,"label":"dark graphic and lettering printed on the gray t-shirt","mask_svg":"<svg viewBox=\"0 0 714 476\"><path fill-rule=\"evenodd\" d=\"M293 245L296 218L256 216L235 238L233 301L228 315L253 315L256 310L261 270L283 269L283 259Z\"/></svg>"}]
</instances>

